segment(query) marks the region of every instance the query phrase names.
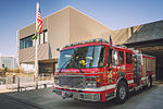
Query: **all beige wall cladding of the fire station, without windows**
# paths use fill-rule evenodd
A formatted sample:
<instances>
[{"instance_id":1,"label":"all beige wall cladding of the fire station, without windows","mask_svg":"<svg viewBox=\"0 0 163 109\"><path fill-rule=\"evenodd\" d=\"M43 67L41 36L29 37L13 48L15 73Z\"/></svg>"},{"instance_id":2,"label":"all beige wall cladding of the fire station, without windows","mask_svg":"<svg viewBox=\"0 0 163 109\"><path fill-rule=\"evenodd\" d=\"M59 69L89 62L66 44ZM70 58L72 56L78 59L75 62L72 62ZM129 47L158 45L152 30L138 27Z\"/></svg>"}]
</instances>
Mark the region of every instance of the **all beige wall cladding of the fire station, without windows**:
<instances>
[{"instance_id":1,"label":"all beige wall cladding of the fire station, without windows","mask_svg":"<svg viewBox=\"0 0 163 109\"><path fill-rule=\"evenodd\" d=\"M140 27L135 26L134 32ZM38 46L38 60L58 59L63 46L76 41L112 36L114 45L122 45L131 36L130 27L112 31L93 19L67 7L43 19L43 29L48 29L48 43ZM20 29L20 39L35 33L35 23ZM34 47L20 50L20 62L33 62Z\"/></svg>"}]
</instances>

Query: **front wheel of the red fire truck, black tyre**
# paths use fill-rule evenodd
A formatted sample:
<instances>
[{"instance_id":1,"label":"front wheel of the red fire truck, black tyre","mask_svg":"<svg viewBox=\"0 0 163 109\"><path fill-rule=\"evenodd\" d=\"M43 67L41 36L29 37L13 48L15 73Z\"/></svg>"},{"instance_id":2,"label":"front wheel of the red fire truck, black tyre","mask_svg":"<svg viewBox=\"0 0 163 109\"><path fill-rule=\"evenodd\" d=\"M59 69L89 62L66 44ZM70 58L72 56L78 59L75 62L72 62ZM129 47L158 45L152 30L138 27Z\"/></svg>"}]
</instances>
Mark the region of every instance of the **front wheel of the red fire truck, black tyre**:
<instances>
[{"instance_id":1,"label":"front wheel of the red fire truck, black tyre","mask_svg":"<svg viewBox=\"0 0 163 109\"><path fill-rule=\"evenodd\" d=\"M116 101L117 104L124 104L127 99L128 92L127 85L124 82L120 82L116 90Z\"/></svg>"}]
</instances>

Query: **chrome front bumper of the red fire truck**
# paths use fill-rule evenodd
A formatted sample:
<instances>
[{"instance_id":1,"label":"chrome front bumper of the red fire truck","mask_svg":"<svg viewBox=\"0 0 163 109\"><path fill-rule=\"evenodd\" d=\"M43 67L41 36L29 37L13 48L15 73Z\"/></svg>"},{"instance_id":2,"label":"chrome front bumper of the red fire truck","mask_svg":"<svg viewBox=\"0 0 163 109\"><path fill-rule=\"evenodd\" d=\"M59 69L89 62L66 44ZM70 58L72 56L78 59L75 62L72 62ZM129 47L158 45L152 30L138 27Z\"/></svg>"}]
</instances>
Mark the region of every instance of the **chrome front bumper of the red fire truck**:
<instances>
[{"instance_id":1,"label":"chrome front bumper of the red fire truck","mask_svg":"<svg viewBox=\"0 0 163 109\"><path fill-rule=\"evenodd\" d=\"M84 92L68 92L63 89L53 89L53 93L63 98L74 98L89 101L101 101L101 93L84 93Z\"/></svg>"}]
</instances>

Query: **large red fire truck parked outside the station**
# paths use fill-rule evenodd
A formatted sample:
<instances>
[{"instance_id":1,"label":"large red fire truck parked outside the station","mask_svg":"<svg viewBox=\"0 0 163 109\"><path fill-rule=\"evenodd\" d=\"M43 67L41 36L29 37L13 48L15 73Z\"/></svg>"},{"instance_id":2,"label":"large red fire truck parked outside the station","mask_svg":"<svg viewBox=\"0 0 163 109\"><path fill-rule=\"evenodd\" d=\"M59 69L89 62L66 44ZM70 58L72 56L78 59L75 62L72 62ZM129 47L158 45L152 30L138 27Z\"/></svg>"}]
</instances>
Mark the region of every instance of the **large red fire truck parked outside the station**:
<instances>
[{"instance_id":1,"label":"large red fire truck parked outside the station","mask_svg":"<svg viewBox=\"0 0 163 109\"><path fill-rule=\"evenodd\" d=\"M128 93L151 87L155 58L104 39L71 44L60 51L53 92L63 98L126 101Z\"/></svg>"}]
</instances>

